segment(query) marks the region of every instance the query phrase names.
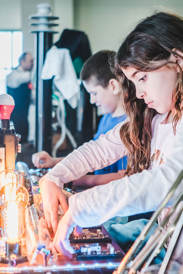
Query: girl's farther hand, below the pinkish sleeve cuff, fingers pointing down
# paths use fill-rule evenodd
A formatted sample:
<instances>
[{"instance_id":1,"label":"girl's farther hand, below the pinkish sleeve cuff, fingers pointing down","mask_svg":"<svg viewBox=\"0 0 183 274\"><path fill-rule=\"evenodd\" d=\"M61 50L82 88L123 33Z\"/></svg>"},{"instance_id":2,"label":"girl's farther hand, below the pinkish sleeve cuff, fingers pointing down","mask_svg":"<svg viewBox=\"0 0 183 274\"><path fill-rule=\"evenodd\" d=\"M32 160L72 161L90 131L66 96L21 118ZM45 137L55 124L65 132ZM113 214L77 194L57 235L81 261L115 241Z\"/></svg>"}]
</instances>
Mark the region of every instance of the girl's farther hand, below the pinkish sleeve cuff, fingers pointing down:
<instances>
[{"instance_id":1,"label":"girl's farther hand, below the pinkish sleeve cuff, fingers pointing down","mask_svg":"<svg viewBox=\"0 0 183 274\"><path fill-rule=\"evenodd\" d=\"M62 190L54 182L43 179L41 182L41 197L43 200L43 209L45 213L45 221L49 228L53 228L54 233L57 230L57 213L59 208L59 203L66 213L68 205L66 202L66 197L64 196Z\"/></svg>"}]
</instances>

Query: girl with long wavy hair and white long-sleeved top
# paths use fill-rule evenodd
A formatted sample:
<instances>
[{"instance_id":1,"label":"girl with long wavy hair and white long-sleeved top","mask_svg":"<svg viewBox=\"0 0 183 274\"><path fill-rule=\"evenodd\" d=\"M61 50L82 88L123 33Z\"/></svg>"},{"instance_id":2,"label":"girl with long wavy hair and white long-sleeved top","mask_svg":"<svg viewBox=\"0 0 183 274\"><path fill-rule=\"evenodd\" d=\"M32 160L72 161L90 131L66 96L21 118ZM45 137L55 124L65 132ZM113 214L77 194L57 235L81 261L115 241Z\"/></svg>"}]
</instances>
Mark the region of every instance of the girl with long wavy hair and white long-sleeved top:
<instances>
[{"instance_id":1,"label":"girl with long wavy hair and white long-sleeved top","mask_svg":"<svg viewBox=\"0 0 183 274\"><path fill-rule=\"evenodd\" d=\"M183 169L182 34L183 18L165 12L136 26L115 58L128 120L74 150L41 179L45 218L56 230L58 201L66 208L63 183L128 156L127 176L70 197L54 238L62 253L73 252L68 237L74 227L77 234L77 226L155 210Z\"/></svg>"}]
</instances>

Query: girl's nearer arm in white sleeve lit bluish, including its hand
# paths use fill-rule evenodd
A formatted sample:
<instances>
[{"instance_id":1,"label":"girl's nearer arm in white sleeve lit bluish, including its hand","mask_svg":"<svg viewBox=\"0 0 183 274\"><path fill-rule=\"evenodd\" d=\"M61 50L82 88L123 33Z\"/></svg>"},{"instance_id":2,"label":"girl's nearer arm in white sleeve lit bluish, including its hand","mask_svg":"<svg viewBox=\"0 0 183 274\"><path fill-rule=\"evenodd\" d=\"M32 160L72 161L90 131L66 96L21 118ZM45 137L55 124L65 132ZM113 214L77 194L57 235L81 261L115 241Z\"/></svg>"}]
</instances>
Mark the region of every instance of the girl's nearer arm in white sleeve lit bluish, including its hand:
<instances>
[{"instance_id":1,"label":"girl's nearer arm in white sleeve lit bluish, including its hand","mask_svg":"<svg viewBox=\"0 0 183 274\"><path fill-rule=\"evenodd\" d=\"M99 225L114 216L129 216L153 211L167 195L170 187L183 169L183 118L175 136L173 153L166 161L153 170L112 181L109 184L96 186L69 199L69 212L72 223L81 227ZM182 191L183 182L177 189ZM170 202L171 203L171 202ZM67 217L67 216L66 216ZM65 222L65 216L62 222ZM73 230L73 225L61 226L57 230L57 243L62 244L66 231ZM67 242L67 244L69 244ZM66 247L69 251L69 247Z\"/></svg>"}]
</instances>

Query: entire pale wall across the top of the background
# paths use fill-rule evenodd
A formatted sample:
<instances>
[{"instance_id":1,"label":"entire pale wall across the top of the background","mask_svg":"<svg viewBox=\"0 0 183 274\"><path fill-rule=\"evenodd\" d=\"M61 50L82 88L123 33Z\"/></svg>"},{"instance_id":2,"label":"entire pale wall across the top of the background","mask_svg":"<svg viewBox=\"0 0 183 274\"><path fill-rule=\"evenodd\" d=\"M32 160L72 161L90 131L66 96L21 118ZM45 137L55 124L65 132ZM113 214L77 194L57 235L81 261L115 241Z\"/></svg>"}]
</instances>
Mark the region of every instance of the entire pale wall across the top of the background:
<instances>
[{"instance_id":1,"label":"entire pale wall across the top of the background","mask_svg":"<svg viewBox=\"0 0 183 274\"><path fill-rule=\"evenodd\" d=\"M152 13L159 5L183 16L182 0L0 0L0 30L22 30L23 51L34 51L33 27L29 15L37 12L38 3L48 2L55 23L53 41L64 28L84 31L90 40L92 53L101 49L117 50L121 40L139 19Z\"/></svg>"}]
</instances>

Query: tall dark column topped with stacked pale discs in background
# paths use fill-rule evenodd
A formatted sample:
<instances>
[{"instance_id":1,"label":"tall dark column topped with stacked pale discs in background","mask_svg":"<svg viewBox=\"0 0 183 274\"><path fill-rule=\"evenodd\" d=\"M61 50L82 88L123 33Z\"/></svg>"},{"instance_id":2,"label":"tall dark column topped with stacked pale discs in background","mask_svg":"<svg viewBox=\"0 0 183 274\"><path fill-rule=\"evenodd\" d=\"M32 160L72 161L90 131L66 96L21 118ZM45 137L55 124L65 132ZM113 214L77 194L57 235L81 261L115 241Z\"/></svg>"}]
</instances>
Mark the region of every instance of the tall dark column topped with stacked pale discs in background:
<instances>
[{"instance_id":1,"label":"tall dark column topped with stacked pale discs in background","mask_svg":"<svg viewBox=\"0 0 183 274\"><path fill-rule=\"evenodd\" d=\"M52 154L52 79L41 79L41 70L45 60L46 52L52 47L53 33L52 26L58 24L49 21L59 19L51 13L49 4L37 5L38 13L31 15L30 19L38 20L37 23L31 23L31 26L37 26L35 33L36 41L36 152L41 150Z\"/></svg>"}]
</instances>

